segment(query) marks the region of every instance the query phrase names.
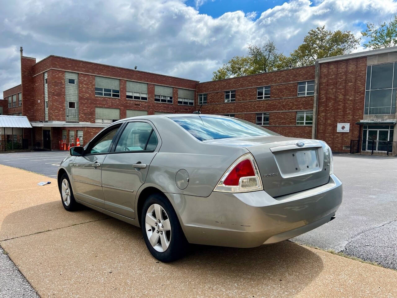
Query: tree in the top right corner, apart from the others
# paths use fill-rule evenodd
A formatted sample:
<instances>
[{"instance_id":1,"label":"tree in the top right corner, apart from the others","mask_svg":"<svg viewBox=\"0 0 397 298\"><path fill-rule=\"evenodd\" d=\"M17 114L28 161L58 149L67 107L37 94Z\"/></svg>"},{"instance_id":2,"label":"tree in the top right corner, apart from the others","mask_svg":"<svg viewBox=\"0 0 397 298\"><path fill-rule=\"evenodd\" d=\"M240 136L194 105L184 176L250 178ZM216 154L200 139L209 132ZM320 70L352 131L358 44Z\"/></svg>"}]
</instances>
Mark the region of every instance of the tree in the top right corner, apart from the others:
<instances>
[{"instance_id":1,"label":"tree in the top right corner, apart from the others","mask_svg":"<svg viewBox=\"0 0 397 298\"><path fill-rule=\"evenodd\" d=\"M367 29L361 32L362 36L368 37L369 41L364 43L365 48L386 48L397 45L397 16L378 22L378 25L367 23Z\"/></svg>"}]
</instances>

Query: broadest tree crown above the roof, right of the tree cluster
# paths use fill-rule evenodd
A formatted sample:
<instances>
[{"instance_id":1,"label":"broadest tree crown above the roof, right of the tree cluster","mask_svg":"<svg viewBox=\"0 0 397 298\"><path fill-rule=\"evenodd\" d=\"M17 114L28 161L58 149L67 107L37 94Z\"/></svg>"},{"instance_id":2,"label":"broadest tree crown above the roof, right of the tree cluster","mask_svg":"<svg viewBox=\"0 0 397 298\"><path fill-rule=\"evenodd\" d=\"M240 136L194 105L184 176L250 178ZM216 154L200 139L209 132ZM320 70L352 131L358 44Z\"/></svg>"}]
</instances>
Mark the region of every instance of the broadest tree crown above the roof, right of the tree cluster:
<instances>
[{"instance_id":1,"label":"broadest tree crown above the roof, right of the tree cluster","mask_svg":"<svg viewBox=\"0 0 397 298\"><path fill-rule=\"evenodd\" d=\"M312 65L316 59L349 54L359 45L351 31L328 31L325 26L317 27L308 32L303 44L294 50L290 56L293 66Z\"/></svg>"}]
</instances>

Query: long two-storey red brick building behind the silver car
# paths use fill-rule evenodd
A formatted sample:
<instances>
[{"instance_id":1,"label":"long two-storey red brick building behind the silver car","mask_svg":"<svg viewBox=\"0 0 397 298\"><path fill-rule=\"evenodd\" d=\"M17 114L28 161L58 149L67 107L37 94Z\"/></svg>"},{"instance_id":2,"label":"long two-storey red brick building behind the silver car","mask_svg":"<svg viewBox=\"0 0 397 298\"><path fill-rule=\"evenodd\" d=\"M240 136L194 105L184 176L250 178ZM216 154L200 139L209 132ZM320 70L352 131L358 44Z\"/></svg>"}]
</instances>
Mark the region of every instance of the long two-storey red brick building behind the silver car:
<instances>
[{"instance_id":1,"label":"long two-storey red brick building behind the silver car","mask_svg":"<svg viewBox=\"0 0 397 298\"><path fill-rule=\"evenodd\" d=\"M393 140L395 62L397 47L200 83L58 56L36 63L21 48L21 85L3 92L0 114L27 116L33 129L21 137L48 149L58 149L60 139L84 144L125 117L200 108L282 135L322 139L333 151L348 152L351 140L360 139L365 151L366 140Z\"/></svg>"}]
</instances>

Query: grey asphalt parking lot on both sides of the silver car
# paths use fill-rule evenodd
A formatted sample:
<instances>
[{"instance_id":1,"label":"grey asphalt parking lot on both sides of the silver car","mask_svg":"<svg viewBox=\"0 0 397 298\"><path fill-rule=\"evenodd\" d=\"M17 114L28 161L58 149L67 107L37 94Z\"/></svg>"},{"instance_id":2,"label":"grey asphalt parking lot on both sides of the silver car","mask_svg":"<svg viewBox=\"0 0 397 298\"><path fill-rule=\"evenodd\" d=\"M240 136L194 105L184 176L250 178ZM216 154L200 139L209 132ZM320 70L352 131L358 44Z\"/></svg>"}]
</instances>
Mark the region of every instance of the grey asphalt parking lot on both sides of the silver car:
<instances>
[{"instance_id":1,"label":"grey asphalt parking lot on both sides of the silver car","mask_svg":"<svg viewBox=\"0 0 397 298\"><path fill-rule=\"evenodd\" d=\"M68 154L4 153L0 164L54 178ZM335 155L334 172L343 182L343 203L336 219L292 241L397 269L397 158Z\"/></svg>"}]
</instances>

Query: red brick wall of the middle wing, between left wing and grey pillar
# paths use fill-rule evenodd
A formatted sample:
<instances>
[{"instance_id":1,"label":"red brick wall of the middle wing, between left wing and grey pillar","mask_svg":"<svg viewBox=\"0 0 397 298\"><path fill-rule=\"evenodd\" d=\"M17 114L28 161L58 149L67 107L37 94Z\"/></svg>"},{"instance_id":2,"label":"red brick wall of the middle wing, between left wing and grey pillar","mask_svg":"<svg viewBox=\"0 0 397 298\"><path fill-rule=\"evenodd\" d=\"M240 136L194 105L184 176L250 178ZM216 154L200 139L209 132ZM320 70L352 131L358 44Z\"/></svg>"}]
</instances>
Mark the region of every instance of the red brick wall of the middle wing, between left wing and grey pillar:
<instances>
[{"instance_id":1,"label":"red brick wall of the middle wing, between left wing and grey pillar","mask_svg":"<svg viewBox=\"0 0 397 298\"><path fill-rule=\"evenodd\" d=\"M267 129L285 136L311 138L312 126L296 125L297 110L313 109L313 96L297 97L297 82L309 80L314 80L314 66L199 83L197 93L207 93L207 104L200 111L235 114L252 123L256 122L255 113L269 112ZM271 99L257 100L256 87L268 85ZM226 90L236 90L235 102L225 103Z\"/></svg>"}]
</instances>

